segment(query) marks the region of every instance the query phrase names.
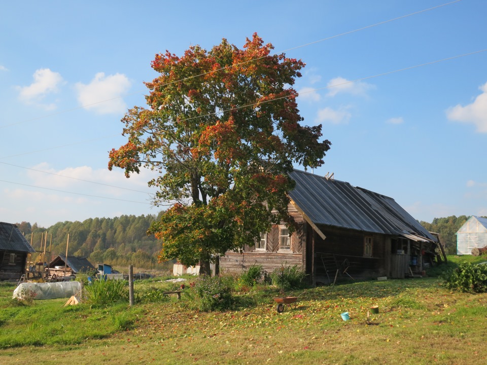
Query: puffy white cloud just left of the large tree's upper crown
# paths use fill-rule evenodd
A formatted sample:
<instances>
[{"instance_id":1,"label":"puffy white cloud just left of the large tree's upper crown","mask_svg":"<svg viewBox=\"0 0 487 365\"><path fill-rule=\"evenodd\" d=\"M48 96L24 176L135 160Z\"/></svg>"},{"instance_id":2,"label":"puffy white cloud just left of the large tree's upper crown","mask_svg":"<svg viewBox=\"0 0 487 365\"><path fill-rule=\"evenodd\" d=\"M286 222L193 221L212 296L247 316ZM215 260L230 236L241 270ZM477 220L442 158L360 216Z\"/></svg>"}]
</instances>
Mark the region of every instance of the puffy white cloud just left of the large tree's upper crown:
<instances>
[{"instance_id":1,"label":"puffy white cloud just left of the large tree's upper crown","mask_svg":"<svg viewBox=\"0 0 487 365\"><path fill-rule=\"evenodd\" d=\"M121 95L129 88L130 81L125 75L105 76L103 72L98 72L88 85L76 84L80 104L98 114L124 113L127 106Z\"/></svg>"}]
</instances>

